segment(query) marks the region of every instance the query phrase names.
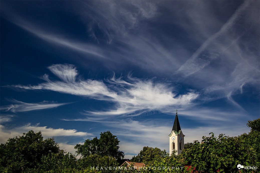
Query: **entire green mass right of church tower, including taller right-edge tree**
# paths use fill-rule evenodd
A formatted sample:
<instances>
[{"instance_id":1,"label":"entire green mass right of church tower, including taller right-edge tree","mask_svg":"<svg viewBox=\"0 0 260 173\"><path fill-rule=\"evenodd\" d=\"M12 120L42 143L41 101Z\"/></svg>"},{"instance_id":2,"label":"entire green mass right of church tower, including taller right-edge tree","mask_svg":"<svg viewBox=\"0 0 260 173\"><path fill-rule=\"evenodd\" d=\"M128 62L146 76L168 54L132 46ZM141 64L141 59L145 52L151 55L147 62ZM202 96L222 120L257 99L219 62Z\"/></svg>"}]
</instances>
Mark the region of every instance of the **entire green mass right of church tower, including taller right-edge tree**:
<instances>
[{"instance_id":1,"label":"entire green mass right of church tower, including taller right-edge tree","mask_svg":"<svg viewBox=\"0 0 260 173\"><path fill-rule=\"evenodd\" d=\"M207 172L236 172L238 164L259 168L260 119L248 121L247 125L251 127L249 134L235 137L220 134L217 138L210 133L210 137L203 136L202 143L194 141L190 148L181 153L185 165Z\"/></svg>"}]
</instances>

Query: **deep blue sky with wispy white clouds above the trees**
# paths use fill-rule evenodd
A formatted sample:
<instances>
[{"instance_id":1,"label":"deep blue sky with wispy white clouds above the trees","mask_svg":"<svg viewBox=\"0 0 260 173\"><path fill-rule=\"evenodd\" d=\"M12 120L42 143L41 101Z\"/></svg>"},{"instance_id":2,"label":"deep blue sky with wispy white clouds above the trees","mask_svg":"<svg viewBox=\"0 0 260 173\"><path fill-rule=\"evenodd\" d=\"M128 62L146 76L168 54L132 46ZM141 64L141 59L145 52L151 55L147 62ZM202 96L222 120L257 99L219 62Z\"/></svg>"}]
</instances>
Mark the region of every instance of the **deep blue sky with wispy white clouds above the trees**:
<instances>
[{"instance_id":1,"label":"deep blue sky with wispy white clouds above the trees","mask_svg":"<svg viewBox=\"0 0 260 173\"><path fill-rule=\"evenodd\" d=\"M0 142L110 131L131 159L260 115L260 1L1 1Z\"/></svg>"}]
</instances>

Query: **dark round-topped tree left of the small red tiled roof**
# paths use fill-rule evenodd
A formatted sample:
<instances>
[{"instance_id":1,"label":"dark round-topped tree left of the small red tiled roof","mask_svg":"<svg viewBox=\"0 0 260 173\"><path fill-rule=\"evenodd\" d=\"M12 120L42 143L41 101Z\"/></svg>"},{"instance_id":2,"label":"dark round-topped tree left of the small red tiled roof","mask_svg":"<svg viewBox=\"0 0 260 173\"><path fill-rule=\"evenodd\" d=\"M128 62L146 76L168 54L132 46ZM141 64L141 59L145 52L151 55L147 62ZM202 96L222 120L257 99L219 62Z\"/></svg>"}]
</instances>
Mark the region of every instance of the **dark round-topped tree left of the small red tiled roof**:
<instances>
[{"instance_id":1,"label":"dark round-topped tree left of the small red tiled roof","mask_svg":"<svg viewBox=\"0 0 260 173\"><path fill-rule=\"evenodd\" d=\"M100 133L100 138L86 140L83 145L77 144L74 148L77 150L77 155L87 157L89 155L110 156L115 158L123 158L124 153L119 150L119 140L110 131Z\"/></svg>"}]
</instances>

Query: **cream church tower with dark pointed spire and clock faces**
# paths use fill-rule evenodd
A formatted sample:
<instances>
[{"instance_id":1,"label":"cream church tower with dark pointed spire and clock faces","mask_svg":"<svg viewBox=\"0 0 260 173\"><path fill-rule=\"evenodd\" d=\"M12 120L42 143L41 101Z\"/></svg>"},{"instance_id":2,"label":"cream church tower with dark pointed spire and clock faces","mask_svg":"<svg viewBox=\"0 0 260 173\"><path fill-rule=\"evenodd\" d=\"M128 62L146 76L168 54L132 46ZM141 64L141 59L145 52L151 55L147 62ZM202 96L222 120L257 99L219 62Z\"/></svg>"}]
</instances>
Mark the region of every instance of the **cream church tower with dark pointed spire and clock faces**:
<instances>
[{"instance_id":1,"label":"cream church tower with dark pointed spire and clock faces","mask_svg":"<svg viewBox=\"0 0 260 173\"><path fill-rule=\"evenodd\" d=\"M172 127L172 132L168 136L170 137L170 156L174 153L176 153L176 155L179 155L181 151L184 149L185 135L183 135L180 129L177 110L176 110L176 116Z\"/></svg>"}]
</instances>

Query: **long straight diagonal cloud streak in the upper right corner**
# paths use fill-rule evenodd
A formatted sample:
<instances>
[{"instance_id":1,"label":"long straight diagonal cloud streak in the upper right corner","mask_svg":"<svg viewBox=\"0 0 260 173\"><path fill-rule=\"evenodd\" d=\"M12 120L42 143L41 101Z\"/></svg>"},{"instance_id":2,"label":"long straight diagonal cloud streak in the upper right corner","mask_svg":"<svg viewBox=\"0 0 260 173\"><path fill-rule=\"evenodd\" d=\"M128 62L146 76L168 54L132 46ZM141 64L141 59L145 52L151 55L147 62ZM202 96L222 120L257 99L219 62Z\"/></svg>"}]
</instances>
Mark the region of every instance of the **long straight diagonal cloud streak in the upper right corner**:
<instances>
[{"instance_id":1,"label":"long straight diagonal cloud streak in the upper right corner","mask_svg":"<svg viewBox=\"0 0 260 173\"><path fill-rule=\"evenodd\" d=\"M247 13L251 7L250 1L244 2L228 22L217 33L208 38L176 73L182 73L185 76L191 75L209 65L212 60L218 58L221 54L225 54L225 51L232 44L236 44L236 41L246 32L247 28L245 25L241 25L241 21L246 23L246 19L253 15ZM235 31L234 28L236 28Z\"/></svg>"}]
</instances>

